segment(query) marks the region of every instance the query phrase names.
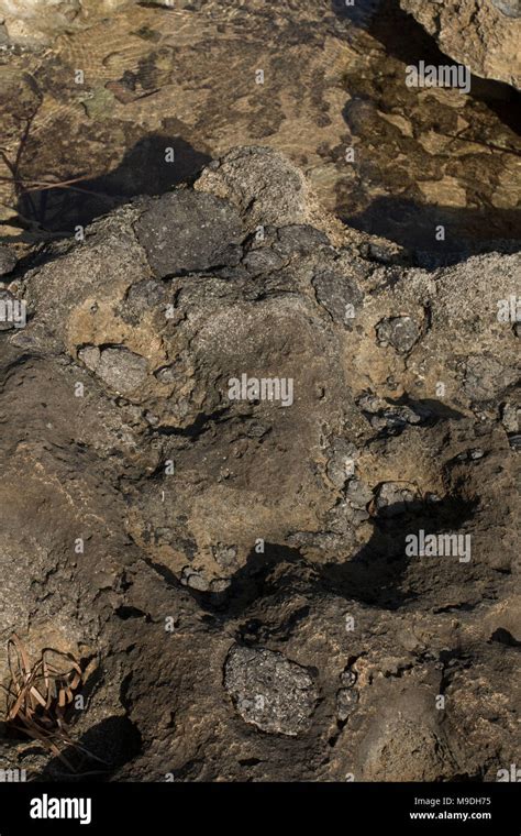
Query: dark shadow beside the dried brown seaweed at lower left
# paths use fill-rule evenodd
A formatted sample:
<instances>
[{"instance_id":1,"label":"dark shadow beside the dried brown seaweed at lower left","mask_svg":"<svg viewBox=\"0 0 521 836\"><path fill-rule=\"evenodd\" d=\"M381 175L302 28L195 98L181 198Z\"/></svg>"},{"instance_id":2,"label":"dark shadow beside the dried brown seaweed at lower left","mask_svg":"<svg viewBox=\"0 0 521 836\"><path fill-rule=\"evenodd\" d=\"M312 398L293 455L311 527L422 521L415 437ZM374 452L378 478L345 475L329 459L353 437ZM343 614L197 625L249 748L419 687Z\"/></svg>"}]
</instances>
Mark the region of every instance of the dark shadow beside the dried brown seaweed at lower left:
<instances>
[{"instance_id":1,"label":"dark shadow beside the dried brown seaweed at lower left","mask_svg":"<svg viewBox=\"0 0 521 836\"><path fill-rule=\"evenodd\" d=\"M75 771L67 769L59 758L48 761L36 781L107 781L111 773L141 752L142 740L137 728L128 717L108 717L82 735L78 746L63 750Z\"/></svg>"}]
</instances>

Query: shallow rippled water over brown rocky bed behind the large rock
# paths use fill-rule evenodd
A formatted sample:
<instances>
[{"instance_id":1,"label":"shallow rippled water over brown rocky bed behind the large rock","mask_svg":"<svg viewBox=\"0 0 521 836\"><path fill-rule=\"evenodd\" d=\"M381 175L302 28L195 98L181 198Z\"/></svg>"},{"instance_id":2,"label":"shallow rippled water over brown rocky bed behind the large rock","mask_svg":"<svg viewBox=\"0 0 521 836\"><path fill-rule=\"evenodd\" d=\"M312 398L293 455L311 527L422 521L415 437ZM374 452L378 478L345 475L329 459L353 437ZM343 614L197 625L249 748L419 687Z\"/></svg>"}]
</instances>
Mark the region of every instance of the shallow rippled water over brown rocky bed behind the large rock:
<instances>
[{"instance_id":1,"label":"shallow rippled water over brown rocky bed behind the large rock","mask_svg":"<svg viewBox=\"0 0 521 836\"><path fill-rule=\"evenodd\" d=\"M29 243L73 234L135 195L170 191L232 147L269 145L304 172L322 207L393 242L368 244L373 261L390 263L406 246L432 267L519 242L516 90L478 69L468 95L408 87L408 66L457 55L448 58L398 0L113 0L110 9L82 0L65 30L48 7L42 13L46 3L26 12L33 33L38 20L57 31L48 46L13 34L0 52L1 234ZM453 6L443 3L443 18ZM431 15L440 3L421 7ZM518 19L494 6L478 18L483 31L501 33L487 47L494 61ZM454 10L450 23L458 25ZM463 23L473 30L468 14ZM239 154L208 173L215 195L226 197L243 164ZM287 188L301 187L295 177L284 177ZM233 201L252 200L252 220L264 204L271 222L269 206L286 200L278 177L264 196L252 195L244 172L240 179ZM295 223L308 222L306 205L302 193Z\"/></svg>"}]
</instances>

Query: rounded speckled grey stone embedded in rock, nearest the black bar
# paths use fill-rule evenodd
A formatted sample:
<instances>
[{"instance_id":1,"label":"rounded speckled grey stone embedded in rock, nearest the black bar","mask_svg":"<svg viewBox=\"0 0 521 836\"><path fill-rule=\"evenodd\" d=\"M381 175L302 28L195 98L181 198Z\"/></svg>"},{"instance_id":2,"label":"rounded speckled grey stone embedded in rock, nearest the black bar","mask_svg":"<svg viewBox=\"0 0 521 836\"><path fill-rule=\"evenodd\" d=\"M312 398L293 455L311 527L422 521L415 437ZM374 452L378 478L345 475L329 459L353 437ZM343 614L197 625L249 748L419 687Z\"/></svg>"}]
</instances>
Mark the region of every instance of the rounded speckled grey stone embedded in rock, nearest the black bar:
<instances>
[{"instance_id":1,"label":"rounded speckled grey stone embedded in rock, nearest the black bar","mask_svg":"<svg viewBox=\"0 0 521 836\"><path fill-rule=\"evenodd\" d=\"M263 732L292 737L310 726L318 700L314 680L282 653L233 646L224 686L241 717Z\"/></svg>"}]
</instances>

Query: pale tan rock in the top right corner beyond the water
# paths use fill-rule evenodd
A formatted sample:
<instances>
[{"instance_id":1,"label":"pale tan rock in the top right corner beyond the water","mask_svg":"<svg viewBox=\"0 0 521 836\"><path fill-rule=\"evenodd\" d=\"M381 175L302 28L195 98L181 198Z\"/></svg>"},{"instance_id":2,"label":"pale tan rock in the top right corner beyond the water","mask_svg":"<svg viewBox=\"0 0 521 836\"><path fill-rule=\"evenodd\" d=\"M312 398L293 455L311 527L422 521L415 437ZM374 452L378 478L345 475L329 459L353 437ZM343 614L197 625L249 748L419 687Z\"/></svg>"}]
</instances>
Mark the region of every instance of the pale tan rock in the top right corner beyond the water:
<instances>
[{"instance_id":1,"label":"pale tan rock in the top right corner beyond the water","mask_svg":"<svg viewBox=\"0 0 521 836\"><path fill-rule=\"evenodd\" d=\"M400 0L442 52L481 78L521 88L519 0Z\"/></svg>"}]
</instances>

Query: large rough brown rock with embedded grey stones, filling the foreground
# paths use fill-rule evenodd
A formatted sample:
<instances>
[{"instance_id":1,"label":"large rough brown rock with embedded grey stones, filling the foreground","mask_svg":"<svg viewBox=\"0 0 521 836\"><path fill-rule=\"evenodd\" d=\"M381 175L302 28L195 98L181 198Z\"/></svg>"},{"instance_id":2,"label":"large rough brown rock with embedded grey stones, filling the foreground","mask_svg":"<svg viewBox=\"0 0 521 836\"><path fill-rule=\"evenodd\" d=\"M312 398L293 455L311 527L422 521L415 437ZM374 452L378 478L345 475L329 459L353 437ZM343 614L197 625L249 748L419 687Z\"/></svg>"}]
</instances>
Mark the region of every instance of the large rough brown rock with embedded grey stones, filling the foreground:
<instances>
[{"instance_id":1,"label":"large rough brown rock with embedded grey stones, filling the foreground","mask_svg":"<svg viewBox=\"0 0 521 836\"><path fill-rule=\"evenodd\" d=\"M274 172L286 201L252 205ZM498 310L519 255L430 272L372 245L250 147L5 282L27 321L0 337L0 681L13 631L81 660L70 727L106 765L73 750L79 773L516 762L519 341ZM34 743L0 750L67 780Z\"/></svg>"}]
</instances>

